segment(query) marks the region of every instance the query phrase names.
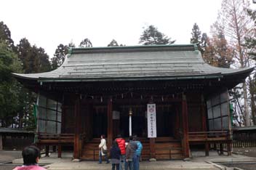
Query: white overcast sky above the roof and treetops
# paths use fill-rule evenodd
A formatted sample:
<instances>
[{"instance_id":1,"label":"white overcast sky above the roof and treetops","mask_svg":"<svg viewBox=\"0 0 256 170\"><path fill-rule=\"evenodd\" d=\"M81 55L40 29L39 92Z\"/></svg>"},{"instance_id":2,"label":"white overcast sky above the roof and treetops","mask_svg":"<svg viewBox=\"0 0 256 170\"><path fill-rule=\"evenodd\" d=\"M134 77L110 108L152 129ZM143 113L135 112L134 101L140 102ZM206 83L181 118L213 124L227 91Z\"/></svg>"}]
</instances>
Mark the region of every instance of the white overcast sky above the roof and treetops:
<instances>
[{"instance_id":1,"label":"white overcast sky above the roof and treetops","mask_svg":"<svg viewBox=\"0 0 256 170\"><path fill-rule=\"evenodd\" d=\"M143 27L155 25L161 33L189 44L194 23L209 34L222 0L1 0L0 21L18 44L26 38L53 57L59 44L76 46L89 38L93 46L137 45Z\"/></svg>"}]
</instances>

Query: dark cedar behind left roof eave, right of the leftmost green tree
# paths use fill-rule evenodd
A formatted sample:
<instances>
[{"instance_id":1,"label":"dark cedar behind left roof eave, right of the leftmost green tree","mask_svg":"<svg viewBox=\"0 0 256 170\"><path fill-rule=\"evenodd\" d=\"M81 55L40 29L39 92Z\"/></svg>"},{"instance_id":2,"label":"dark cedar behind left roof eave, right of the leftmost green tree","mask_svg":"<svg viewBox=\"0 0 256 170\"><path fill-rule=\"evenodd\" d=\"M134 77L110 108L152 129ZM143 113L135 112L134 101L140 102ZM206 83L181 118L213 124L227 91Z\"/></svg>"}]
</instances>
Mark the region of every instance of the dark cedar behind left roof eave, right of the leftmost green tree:
<instances>
[{"instance_id":1,"label":"dark cedar behind left roof eave, right of the leftmost green tree","mask_svg":"<svg viewBox=\"0 0 256 170\"><path fill-rule=\"evenodd\" d=\"M17 52L25 73L41 73L51 70L47 53L41 47L31 46L28 39L20 40L20 44L17 44ZM20 98L20 108L17 110L19 113L18 126L34 129L36 126L33 120L33 104L36 102L36 94L26 89L17 94Z\"/></svg>"}]
</instances>

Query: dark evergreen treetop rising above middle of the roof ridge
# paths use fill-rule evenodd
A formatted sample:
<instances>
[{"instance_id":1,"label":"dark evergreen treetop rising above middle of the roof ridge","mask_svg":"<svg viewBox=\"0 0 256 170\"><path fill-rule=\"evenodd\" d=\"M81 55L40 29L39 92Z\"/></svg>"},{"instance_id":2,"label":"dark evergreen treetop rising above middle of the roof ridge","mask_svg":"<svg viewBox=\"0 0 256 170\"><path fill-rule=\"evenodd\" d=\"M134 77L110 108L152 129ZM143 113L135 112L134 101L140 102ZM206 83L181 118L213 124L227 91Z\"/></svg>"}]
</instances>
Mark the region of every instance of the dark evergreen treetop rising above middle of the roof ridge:
<instances>
[{"instance_id":1,"label":"dark evergreen treetop rising above middle of the roof ridge","mask_svg":"<svg viewBox=\"0 0 256 170\"><path fill-rule=\"evenodd\" d=\"M170 38L157 30L153 25L149 25L145 28L143 34L140 36L139 44L143 45L156 45L156 44L173 44L175 41L171 41Z\"/></svg>"}]
</instances>

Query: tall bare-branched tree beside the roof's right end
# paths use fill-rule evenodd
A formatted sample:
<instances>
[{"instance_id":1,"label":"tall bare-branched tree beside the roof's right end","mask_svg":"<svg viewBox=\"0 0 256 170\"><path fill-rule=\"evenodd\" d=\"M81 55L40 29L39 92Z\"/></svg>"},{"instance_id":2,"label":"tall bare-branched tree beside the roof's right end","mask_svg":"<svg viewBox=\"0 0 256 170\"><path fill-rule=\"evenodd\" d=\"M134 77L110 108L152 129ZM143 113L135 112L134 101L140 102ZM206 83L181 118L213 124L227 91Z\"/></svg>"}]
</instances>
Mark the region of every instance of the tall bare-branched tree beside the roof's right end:
<instances>
[{"instance_id":1,"label":"tall bare-branched tree beside the roof's right end","mask_svg":"<svg viewBox=\"0 0 256 170\"><path fill-rule=\"evenodd\" d=\"M223 25L225 36L228 38L228 44L234 52L235 63L239 68L249 66L249 57L247 49L242 46L244 37L252 31L252 20L247 15L249 9L248 0L223 0L217 22ZM244 94L244 125L250 125L249 107L247 97L247 84L243 84Z\"/></svg>"}]
</instances>

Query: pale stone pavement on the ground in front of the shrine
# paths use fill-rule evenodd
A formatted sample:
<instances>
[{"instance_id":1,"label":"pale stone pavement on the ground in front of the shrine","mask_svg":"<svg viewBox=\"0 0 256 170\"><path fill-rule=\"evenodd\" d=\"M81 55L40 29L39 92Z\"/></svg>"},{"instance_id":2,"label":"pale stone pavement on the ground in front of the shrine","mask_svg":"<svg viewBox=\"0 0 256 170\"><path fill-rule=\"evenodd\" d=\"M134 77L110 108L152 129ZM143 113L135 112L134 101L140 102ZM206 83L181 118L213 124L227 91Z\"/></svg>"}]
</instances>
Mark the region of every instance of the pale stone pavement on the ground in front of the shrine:
<instances>
[{"instance_id":1,"label":"pale stone pavement on the ground in front of the shrine","mask_svg":"<svg viewBox=\"0 0 256 170\"><path fill-rule=\"evenodd\" d=\"M233 162L233 161L255 161L256 158L250 158L244 155L217 155L216 152L210 152L208 157L204 156L204 152L192 152L193 158L191 161L142 161L140 162L140 170L181 170L181 169L199 169L199 170L218 170L225 169L212 162ZM111 169L111 163L99 164L97 161L81 161L73 162L72 153L63 153L63 158L57 158L57 153L52 153L49 157L44 157L39 160L39 163L44 164L47 169L51 170L87 170L87 169ZM23 159L14 160L13 163L23 163Z\"/></svg>"}]
</instances>

